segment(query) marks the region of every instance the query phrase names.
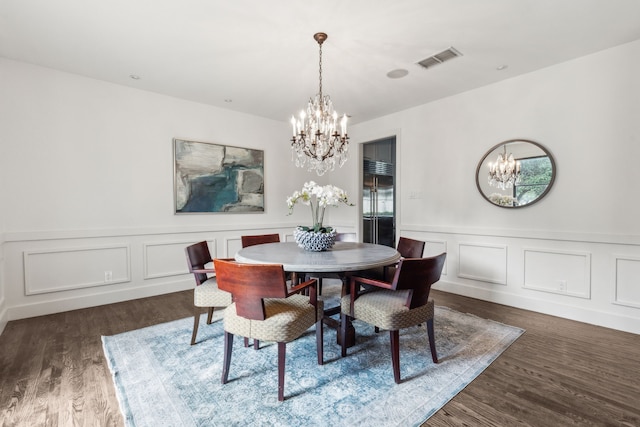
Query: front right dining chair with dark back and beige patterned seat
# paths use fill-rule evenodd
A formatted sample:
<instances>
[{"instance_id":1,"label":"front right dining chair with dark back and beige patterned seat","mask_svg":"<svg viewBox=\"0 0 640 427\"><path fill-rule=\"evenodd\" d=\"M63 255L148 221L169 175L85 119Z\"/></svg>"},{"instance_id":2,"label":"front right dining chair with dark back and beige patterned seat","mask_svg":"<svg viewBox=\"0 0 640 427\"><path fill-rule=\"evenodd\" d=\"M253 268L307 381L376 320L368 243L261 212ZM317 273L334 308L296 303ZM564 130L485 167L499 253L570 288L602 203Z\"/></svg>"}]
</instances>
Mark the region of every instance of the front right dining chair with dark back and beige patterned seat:
<instances>
[{"instance_id":1,"label":"front right dining chair with dark back and beige patterned seat","mask_svg":"<svg viewBox=\"0 0 640 427\"><path fill-rule=\"evenodd\" d=\"M347 316L389 330L393 378L400 383L399 330L426 323L429 348L438 363L433 331L434 301L429 299L431 285L440 280L446 253L429 258L404 258L398 262L390 282L352 276L350 293L341 300L341 342L346 342ZM360 285L369 289L360 291ZM342 344L342 357L347 346Z\"/></svg>"}]
</instances>

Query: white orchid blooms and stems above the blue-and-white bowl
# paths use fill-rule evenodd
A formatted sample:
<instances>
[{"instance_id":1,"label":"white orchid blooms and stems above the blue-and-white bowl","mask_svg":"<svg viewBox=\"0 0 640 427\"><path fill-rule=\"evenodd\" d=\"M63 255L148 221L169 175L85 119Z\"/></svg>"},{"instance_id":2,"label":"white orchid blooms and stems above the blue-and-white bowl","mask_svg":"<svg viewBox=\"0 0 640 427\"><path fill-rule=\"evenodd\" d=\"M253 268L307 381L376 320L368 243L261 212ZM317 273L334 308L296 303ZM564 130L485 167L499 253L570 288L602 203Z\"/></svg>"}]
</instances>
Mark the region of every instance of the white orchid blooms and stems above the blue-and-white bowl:
<instances>
[{"instance_id":1,"label":"white orchid blooms and stems above the blue-and-white bowl","mask_svg":"<svg viewBox=\"0 0 640 427\"><path fill-rule=\"evenodd\" d=\"M321 233L329 233L332 227L323 227L324 210L327 206L338 206L344 203L347 206L353 206L349 203L347 192L335 185L321 186L313 181L305 182L301 191L295 191L291 197L287 197L287 206L289 207L289 215L293 213L293 207L296 203L301 202L311 208L311 227L300 226L305 231L315 231Z\"/></svg>"}]
</instances>

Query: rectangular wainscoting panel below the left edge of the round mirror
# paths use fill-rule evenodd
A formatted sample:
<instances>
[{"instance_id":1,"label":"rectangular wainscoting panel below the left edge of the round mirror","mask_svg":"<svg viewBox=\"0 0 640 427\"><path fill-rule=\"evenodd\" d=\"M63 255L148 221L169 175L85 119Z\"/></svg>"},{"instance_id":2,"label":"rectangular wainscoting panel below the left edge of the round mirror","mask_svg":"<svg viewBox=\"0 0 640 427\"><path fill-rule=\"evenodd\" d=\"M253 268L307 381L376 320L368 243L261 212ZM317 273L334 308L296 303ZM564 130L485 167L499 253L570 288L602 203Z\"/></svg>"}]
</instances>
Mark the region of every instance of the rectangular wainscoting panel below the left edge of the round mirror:
<instances>
[{"instance_id":1,"label":"rectangular wainscoting panel below the left edge of the round mirror","mask_svg":"<svg viewBox=\"0 0 640 427\"><path fill-rule=\"evenodd\" d=\"M458 277L507 284L507 246L460 243Z\"/></svg>"}]
</instances>

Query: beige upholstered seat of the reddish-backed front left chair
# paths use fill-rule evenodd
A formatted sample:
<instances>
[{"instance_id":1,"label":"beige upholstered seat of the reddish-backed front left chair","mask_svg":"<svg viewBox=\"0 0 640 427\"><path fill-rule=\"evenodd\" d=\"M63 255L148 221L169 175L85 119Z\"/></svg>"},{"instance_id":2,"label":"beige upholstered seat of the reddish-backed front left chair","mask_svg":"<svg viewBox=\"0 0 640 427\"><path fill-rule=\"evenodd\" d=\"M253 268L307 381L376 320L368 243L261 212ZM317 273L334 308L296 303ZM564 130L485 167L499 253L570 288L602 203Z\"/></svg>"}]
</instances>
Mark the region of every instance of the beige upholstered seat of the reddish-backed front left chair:
<instances>
[{"instance_id":1,"label":"beige upholstered seat of the reddish-backed front left chair","mask_svg":"<svg viewBox=\"0 0 640 427\"><path fill-rule=\"evenodd\" d=\"M316 308L309 304L309 297L291 295L289 298L265 298L265 320L252 320L236 314L236 305L231 304L224 313L224 329L234 335L259 339L260 341L290 342L302 335L322 318L323 302Z\"/></svg>"}]
</instances>

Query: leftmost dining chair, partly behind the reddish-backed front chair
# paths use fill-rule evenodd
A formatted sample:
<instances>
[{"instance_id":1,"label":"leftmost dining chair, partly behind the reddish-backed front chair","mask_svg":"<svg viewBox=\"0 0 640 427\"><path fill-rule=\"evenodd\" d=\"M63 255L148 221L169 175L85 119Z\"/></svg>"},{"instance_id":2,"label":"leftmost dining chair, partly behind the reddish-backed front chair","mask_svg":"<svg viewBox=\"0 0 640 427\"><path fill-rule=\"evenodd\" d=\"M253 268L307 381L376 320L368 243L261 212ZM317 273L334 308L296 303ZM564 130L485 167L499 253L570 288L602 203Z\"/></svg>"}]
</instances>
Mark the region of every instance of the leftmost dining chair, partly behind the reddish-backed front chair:
<instances>
[{"instance_id":1,"label":"leftmost dining chair, partly behind the reddish-backed front chair","mask_svg":"<svg viewBox=\"0 0 640 427\"><path fill-rule=\"evenodd\" d=\"M193 273L196 279L196 287L193 290L193 333L191 334L191 345L196 343L198 335L198 325L200 324L200 313L202 307L207 307L207 325L211 324L213 310L215 307L226 307L231 304L231 294L218 289L215 278L215 270L205 266L212 262L209 245L206 241L195 243L185 248L189 272Z\"/></svg>"}]
</instances>

